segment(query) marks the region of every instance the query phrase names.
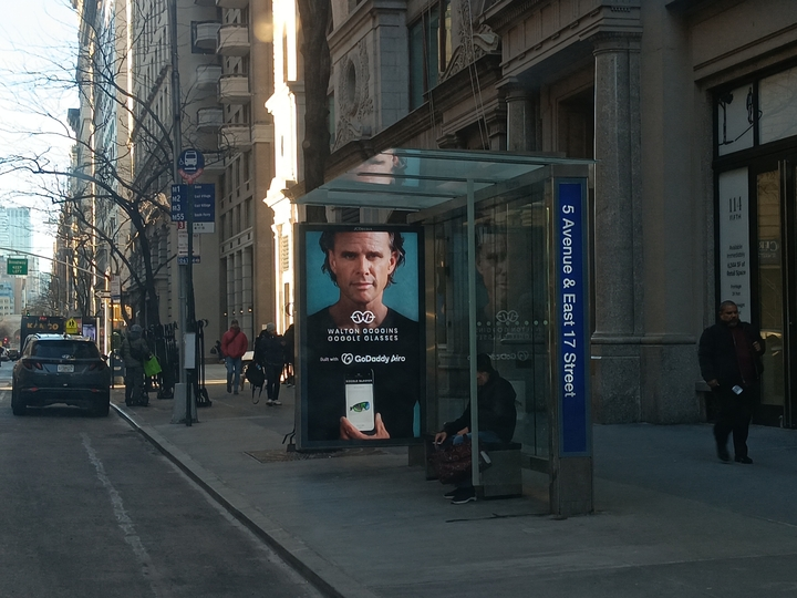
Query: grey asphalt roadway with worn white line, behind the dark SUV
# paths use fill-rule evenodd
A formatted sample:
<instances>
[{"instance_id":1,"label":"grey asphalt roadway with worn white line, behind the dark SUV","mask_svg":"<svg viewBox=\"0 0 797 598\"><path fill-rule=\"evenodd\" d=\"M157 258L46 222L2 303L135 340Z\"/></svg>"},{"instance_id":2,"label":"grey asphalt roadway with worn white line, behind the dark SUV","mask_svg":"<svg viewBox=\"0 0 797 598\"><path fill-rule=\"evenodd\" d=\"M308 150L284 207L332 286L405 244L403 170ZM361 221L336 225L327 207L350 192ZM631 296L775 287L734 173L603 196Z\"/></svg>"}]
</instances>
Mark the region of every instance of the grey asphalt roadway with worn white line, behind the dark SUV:
<instances>
[{"instance_id":1,"label":"grey asphalt roadway with worn white line, behind the dark SUV","mask_svg":"<svg viewBox=\"0 0 797 598\"><path fill-rule=\"evenodd\" d=\"M0 368L0 596L314 597L114 412L10 408Z\"/></svg>"}]
</instances>

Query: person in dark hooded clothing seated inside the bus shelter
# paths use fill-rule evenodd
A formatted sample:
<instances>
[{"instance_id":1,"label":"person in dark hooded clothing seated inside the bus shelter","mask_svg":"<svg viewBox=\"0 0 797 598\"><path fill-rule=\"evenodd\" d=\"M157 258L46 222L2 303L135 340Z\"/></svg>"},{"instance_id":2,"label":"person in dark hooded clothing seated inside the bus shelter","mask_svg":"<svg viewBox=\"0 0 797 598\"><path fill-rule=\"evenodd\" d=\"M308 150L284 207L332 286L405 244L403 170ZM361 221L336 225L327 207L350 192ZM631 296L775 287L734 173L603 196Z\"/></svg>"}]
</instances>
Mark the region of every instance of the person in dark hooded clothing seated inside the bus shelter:
<instances>
[{"instance_id":1,"label":"person in dark hooded clothing seated inside the bus shelter","mask_svg":"<svg viewBox=\"0 0 797 598\"><path fill-rule=\"evenodd\" d=\"M515 389L497 370L488 354L476 357L476 384L478 385L478 437L479 443L508 443L515 434L517 410L515 408ZM470 439L470 404L465 408L462 416L443 424L443 430L435 434L435 444L451 440L460 444ZM458 487L445 495L455 505L476 499L473 480L468 477Z\"/></svg>"}]
</instances>

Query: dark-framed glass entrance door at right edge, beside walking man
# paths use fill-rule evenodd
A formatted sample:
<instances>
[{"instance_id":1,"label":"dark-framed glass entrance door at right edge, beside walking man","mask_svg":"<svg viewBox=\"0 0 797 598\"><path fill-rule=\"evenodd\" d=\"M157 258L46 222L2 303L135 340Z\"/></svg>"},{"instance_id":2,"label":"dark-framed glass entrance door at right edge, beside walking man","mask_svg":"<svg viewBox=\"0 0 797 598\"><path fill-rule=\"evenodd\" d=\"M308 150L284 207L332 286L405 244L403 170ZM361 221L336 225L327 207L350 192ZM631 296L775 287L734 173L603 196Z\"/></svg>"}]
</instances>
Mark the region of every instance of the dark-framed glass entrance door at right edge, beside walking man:
<instances>
[{"instance_id":1,"label":"dark-framed glass entrance door at right edge, beside walking man","mask_svg":"<svg viewBox=\"0 0 797 598\"><path fill-rule=\"evenodd\" d=\"M766 341L758 423L797 426L797 159L751 167L757 276L753 308Z\"/></svg>"}]
</instances>

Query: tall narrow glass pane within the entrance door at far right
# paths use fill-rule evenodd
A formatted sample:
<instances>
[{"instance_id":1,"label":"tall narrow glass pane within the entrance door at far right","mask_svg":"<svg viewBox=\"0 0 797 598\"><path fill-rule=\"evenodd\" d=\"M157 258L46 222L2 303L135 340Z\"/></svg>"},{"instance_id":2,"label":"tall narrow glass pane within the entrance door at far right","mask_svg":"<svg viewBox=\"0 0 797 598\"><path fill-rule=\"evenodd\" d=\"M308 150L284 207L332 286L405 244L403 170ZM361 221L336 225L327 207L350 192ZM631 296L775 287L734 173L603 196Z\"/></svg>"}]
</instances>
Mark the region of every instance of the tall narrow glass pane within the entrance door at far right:
<instances>
[{"instance_id":1,"label":"tall narrow glass pane within the entrance door at far right","mask_svg":"<svg viewBox=\"0 0 797 598\"><path fill-rule=\"evenodd\" d=\"M766 341L762 402L783 405L785 353L783 344L783 264L780 258L780 172L762 173L758 199L758 297L762 337Z\"/></svg>"}]
</instances>

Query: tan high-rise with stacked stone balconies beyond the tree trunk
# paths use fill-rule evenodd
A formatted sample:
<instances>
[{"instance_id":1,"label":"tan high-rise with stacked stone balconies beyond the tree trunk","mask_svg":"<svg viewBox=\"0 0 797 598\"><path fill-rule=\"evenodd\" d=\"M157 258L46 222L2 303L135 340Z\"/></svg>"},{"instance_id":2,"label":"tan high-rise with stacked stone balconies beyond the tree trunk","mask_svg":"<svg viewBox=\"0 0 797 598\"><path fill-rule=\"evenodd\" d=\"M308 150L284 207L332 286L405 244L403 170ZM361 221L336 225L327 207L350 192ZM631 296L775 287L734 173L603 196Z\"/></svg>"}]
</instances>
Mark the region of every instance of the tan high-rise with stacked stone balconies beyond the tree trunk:
<instances>
[{"instance_id":1,"label":"tan high-rise with stacked stone balconies beyond the tree trunk","mask_svg":"<svg viewBox=\"0 0 797 598\"><path fill-rule=\"evenodd\" d=\"M220 317L225 324L237 319L252 340L277 312L273 210L265 203L275 172L275 124L266 109L273 93L272 7L259 0L217 4L225 151L217 186Z\"/></svg>"}]
</instances>

